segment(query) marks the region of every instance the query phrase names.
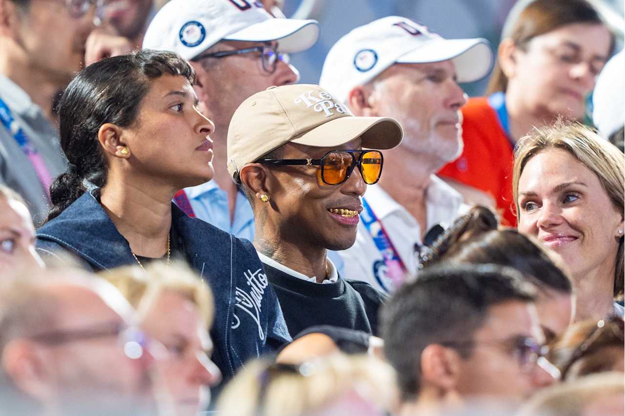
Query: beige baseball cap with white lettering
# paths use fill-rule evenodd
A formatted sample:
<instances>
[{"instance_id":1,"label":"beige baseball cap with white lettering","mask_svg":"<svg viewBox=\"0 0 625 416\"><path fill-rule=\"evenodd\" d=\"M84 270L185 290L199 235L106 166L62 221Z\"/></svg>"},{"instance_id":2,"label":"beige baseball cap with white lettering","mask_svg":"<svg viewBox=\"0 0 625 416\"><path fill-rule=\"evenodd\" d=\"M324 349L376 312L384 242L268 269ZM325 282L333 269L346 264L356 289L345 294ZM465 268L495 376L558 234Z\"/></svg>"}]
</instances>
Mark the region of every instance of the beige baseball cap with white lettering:
<instances>
[{"instance_id":1,"label":"beige baseball cap with white lettering","mask_svg":"<svg viewBox=\"0 0 625 416\"><path fill-rule=\"evenodd\" d=\"M239 182L243 166L288 142L341 146L357 137L367 149L392 149L404 132L389 117L356 117L318 85L269 87L236 109L227 138L228 172Z\"/></svg>"}]
</instances>

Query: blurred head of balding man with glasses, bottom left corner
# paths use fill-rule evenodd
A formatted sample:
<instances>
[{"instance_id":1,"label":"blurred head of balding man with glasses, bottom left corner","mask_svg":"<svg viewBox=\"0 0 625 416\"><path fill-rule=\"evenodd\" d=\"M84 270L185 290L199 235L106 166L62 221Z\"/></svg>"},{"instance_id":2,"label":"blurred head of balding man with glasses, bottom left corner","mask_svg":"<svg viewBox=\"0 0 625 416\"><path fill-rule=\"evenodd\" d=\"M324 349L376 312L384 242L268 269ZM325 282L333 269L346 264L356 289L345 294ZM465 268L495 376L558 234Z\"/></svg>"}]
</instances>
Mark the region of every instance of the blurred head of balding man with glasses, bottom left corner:
<instances>
[{"instance_id":1,"label":"blurred head of balding man with glasses, bottom left corner","mask_svg":"<svg viewBox=\"0 0 625 416\"><path fill-rule=\"evenodd\" d=\"M3 415L153 414L149 340L113 285L69 269L3 280Z\"/></svg>"}]
</instances>

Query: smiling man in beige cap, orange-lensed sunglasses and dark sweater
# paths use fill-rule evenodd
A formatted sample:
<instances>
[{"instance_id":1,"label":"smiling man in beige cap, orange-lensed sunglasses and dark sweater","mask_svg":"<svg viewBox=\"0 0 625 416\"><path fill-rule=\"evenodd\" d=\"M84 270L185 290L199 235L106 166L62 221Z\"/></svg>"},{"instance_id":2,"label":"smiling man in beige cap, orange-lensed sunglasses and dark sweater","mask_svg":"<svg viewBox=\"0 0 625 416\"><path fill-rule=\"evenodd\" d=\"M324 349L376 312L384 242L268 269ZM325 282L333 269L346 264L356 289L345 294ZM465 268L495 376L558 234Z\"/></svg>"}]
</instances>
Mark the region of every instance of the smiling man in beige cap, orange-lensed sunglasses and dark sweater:
<instances>
[{"instance_id":1,"label":"smiling man in beige cap, orange-lensed sunglasses and dark sweater","mask_svg":"<svg viewBox=\"0 0 625 416\"><path fill-rule=\"evenodd\" d=\"M384 295L343 279L326 250L354 244L361 196L382 172L379 150L401 137L394 119L355 117L316 85L271 87L234 112L228 172L254 210L254 247L292 335L312 325L377 333Z\"/></svg>"}]
</instances>

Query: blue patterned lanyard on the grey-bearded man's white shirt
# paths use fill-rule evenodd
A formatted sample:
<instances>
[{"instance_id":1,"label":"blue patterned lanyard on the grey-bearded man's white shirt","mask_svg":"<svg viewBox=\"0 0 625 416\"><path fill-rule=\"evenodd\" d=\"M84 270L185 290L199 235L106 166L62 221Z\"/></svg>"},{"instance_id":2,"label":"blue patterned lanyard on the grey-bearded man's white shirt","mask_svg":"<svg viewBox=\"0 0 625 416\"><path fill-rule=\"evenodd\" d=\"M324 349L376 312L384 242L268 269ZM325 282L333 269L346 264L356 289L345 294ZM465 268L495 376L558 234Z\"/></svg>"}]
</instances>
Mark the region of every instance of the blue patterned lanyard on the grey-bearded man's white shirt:
<instances>
[{"instance_id":1,"label":"blue patterned lanyard on the grey-bearded man's white shirt","mask_svg":"<svg viewBox=\"0 0 625 416\"><path fill-rule=\"evenodd\" d=\"M392 292L393 289L397 289L404 282L407 273L406 265L401 260L401 257L399 257L399 253L392 244L386 230L384 230L382 222L377 219L376 214L374 214L371 206L369 206L367 200L364 198L362 198L362 208L360 219L367 229L367 232L369 232L369 235L371 235L374 244L376 244L377 250L382 254L382 261L384 265L386 265L385 275L390 282L386 282L385 284L379 272L379 267L377 267L376 264L374 264L373 274L384 290ZM387 288L389 284L392 285L392 288Z\"/></svg>"}]
</instances>

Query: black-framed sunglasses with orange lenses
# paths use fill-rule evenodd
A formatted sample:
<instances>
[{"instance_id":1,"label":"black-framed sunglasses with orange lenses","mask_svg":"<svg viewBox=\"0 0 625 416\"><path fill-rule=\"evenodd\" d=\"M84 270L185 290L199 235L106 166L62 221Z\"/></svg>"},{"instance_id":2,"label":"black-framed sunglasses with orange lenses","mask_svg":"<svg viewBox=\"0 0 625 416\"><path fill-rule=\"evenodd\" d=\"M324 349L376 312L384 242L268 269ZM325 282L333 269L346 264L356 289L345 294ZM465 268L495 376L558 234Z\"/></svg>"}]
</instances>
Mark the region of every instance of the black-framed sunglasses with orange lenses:
<instances>
[{"instance_id":1,"label":"black-framed sunglasses with orange lenses","mask_svg":"<svg viewBox=\"0 0 625 416\"><path fill-rule=\"evenodd\" d=\"M321 166L318 177L324 184L340 185L347 181L354 167L367 185L375 184L382 174L382 152L370 150L330 151L321 159L261 159L256 163L276 166Z\"/></svg>"}]
</instances>

